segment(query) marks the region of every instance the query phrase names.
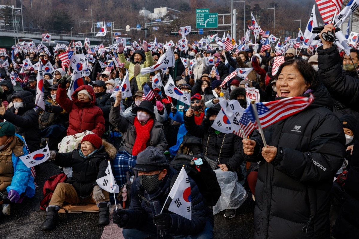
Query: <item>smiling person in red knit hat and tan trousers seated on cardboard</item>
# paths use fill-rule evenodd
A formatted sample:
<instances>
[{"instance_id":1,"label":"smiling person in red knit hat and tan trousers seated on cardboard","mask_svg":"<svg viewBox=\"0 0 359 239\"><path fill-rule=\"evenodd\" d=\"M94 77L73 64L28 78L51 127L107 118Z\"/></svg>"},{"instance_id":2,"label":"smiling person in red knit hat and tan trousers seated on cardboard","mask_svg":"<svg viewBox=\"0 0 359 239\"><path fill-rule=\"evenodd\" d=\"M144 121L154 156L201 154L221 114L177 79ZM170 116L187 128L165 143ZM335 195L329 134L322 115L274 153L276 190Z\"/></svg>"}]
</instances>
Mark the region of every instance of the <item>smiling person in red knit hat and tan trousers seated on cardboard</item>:
<instances>
[{"instance_id":1,"label":"smiling person in red knit hat and tan trousers seated on cardboard","mask_svg":"<svg viewBox=\"0 0 359 239\"><path fill-rule=\"evenodd\" d=\"M108 161L116 155L116 148L98 137L87 134L77 149L69 153L50 151L49 160L57 166L72 167L72 177L59 183L46 208L43 230L53 230L59 223L59 210L64 202L96 204L99 210L99 225L109 224L109 193L101 189L96 180L106 176Z\"/></svg>"}]
</instances>

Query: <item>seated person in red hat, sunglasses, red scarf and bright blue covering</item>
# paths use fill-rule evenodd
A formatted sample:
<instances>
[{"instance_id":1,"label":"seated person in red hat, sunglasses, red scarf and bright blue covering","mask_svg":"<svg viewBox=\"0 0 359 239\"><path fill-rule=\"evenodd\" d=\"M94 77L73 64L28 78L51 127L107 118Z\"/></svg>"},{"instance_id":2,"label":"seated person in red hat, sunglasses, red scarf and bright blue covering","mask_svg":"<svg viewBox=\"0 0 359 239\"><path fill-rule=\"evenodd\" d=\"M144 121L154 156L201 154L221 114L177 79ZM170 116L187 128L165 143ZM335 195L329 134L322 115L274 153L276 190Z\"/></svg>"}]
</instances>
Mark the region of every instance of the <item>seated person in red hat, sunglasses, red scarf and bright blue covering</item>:
<instances>
[{"instance_id":1,"label":"seated person in red hat, sunglasses, red scarf and bright blue covering","mask_svg":"<svg viewBox=\"0 0 359 239\"><path fill-rule=\"evenodd\" d=\"M191 97L191 109L194 110L195 123L201 125L205 116L204 102L201 99L200 94L195 94ZM190 132L187 132L185 127L185 121L183 121L183 112L172 111L169 114L169 118L181 123L177 133L176 145L169 148L169 152L176 156L177 153L182 154L201 154L202 153L202 139L193 136Z\"/></svg>"}]
</instances>

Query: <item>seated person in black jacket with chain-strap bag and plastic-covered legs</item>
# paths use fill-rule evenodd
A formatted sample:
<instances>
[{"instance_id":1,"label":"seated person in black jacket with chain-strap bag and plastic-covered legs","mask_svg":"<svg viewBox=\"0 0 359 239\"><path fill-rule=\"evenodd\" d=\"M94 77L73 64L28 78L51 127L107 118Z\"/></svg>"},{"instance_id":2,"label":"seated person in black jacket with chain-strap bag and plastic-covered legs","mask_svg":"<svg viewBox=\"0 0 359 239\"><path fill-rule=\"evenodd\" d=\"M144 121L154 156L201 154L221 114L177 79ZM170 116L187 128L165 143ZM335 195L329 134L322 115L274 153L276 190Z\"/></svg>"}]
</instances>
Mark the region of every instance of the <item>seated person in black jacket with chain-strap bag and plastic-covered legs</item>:
<instances>
[{"instance_id":1,"label":"seated person in black jacket with chain-strap bag and plastic-covered legs","mask_svg":"<svg viewBox=\"0 0 359 239\"><path fill-rule=\"evenodd\" d=\"M219 104L210 107L201 125L196 124L193 109L187 110L185 115L183 115L183 119L187 131L202 139L204 156L219 163L218 168L215 168L214 172L216 173L221 190L223 191L226 184L235 185L232 187L233 191L230 195L224 195L222 192L221 197L229 197L230 201L227 201L226 205L224 205L221 203L221 200L218 200L214 206L214 210L216 211L218 211L218 209L220 209L219 211L226 209L224 214L225 218L234 218L236 216L236 209L243 203L243 198L245 199L247 197L246 191L243 190L242 185L237 182L238 179L241 181L244 178L241 168L241 164L244 162L244 157L242 156L243 144L241 143L242 138L238 135L233 133L224 134L212 128L212 124L220 110L221 106ZM240 178L238 178L238 176ZM228 179L226 183L220 180L221 177ZM242 193L237 194L238 191Z\"/></svg>"}]
</instances>

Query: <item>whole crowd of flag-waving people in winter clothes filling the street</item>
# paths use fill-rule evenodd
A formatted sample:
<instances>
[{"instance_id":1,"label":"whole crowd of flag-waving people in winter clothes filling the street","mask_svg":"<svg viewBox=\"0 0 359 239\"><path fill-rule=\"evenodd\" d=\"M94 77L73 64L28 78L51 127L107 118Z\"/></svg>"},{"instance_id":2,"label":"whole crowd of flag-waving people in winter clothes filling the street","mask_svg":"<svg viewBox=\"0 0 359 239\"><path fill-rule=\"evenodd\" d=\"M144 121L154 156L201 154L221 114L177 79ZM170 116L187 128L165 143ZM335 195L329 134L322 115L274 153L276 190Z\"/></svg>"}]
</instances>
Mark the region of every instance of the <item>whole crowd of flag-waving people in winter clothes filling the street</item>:
<instances>
[{"instance_id":1,"label":"whole crowd of flag-waving people in winter clothes filling the street","mask_svg":"<svg viewBox=\"0 0 359 239\"><path fill-rule=\"evenodd\" d=\"M325 27L332 29L330 24ZM352 49L348 56L321 40L323 46L316 50L286 49L285 62L274 75L276 55L271 49L261 51L262 44L237 53L188 44L188 51L174 49L173 67L145 74L141 69L154 66L165 49L151 52L146 42L136 51L119 44L115 53L108 50L100 55L78 48L75 54L86 54L90 74L70 98L73 70L63 69L58 57L65 49L22 51L12 61L1 56L0 63L9 63L0 67L2 213L10 215L11 204L34 195L34 176L19 156L48 142L49 161L60 166L68 179L53 193L44 230L55 229L64 202L97 204L99 224L109 223L109 193L96 180L106 175L110 160L121 190L124 185L130 189L129 208L113 212L113 222L124 228L125 238L213 238L213 214L223 211L225 218L234 218L247 193L255 203L254 238L330 238L331 233L335 238L355 238L359 235L354 213L358 210L353 211L359 205L359 130L355 134L359 52ZM123 68L104 71L101 63L110 64L116 54ZM214 57L216 70L206 64L208 57ZM55 68L44 74L45 109L35 105L37 70L22 69L26 58L33 65L50 62ZM253 70L245 80L235 76L223 84L237 68ZM11 71L18 73L21 84L13 84ZM163 86L153 89L157 73ZM132 96L122 97L121 89L112 94L126 74ZM164 85L170 78L190 105L166 95ZM258 90L261 102L309 95L314 101L265 128L266 143L257 130L248 138L219 132L213 124L221 111L220 97L237 100L245 109L246 85ZM154 94L150 100L144 96L147 87ZM118 148L108 143L114 132L121 134ZM67 140L71 144L61 150ZM168 211L168 206L162 211L176 175L169 161L178 154L201 154L217 161L214 172L221 198L227 201L207 206L191 179L192 220ZM232 185L229 193L228 185Z\"/></svg>"}]
</instances>

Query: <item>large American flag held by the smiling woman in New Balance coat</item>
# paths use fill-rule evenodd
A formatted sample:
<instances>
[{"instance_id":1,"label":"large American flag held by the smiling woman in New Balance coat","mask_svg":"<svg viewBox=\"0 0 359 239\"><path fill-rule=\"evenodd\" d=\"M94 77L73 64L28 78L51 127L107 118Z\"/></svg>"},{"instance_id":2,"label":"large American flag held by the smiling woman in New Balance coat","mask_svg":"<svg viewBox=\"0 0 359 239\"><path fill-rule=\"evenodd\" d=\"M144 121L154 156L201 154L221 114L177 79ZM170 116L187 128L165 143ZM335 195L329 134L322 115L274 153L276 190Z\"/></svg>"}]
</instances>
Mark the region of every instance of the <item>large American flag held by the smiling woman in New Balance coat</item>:
<instances>
[{"instance_id":1,"label":"large American flag held by the smiling woman in New Balance coat","mask_svg":"<svg viewBox=\"0 0 359 239\"><path fill-rule=\"evenodd\" d=\"M309 98L303 96L288 97L276 101L255 103L255 106L257 108L259 122L264 129L280 120L299 113L312 104L313 100L314 97L311 94ZM253 107L249 106L244 113L247 114L256 129L258 129Z\"/></svg>"}]
</instances>

